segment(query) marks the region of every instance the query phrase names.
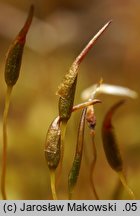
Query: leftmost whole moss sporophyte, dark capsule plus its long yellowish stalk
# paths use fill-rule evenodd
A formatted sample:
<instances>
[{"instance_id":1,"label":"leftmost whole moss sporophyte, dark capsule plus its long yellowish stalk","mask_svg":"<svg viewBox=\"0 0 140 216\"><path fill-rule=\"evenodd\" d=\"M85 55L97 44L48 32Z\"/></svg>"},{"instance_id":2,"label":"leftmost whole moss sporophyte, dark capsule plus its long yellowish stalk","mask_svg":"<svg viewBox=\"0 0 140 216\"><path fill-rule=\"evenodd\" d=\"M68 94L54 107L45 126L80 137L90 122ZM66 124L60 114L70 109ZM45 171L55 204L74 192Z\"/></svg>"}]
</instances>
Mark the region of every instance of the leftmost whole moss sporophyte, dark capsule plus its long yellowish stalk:
<instances>
[{"instance_id":1,"label":"leftmost whole moss sporophyte, dark capsule plus its long yellowish stalk","mask_svg":"<svg viewBox=\"0 0 140 216\"><path fill-rule=\"evenodd\" d=\"M6 195L6 160L7 160L7 116L10 105L10 97L13 86L16 84L23 55L23 49L26 41L26 35L30 28L32 18L33 18L34 6L31 5L27 20L11 44L7 55L5 63L5 82L7 84L7 92L5 97L5 108L3 113L3 153L2 153L2 174L1 174L1 193L4 200L7 199Z\"/></svg>"}]
</instances>

